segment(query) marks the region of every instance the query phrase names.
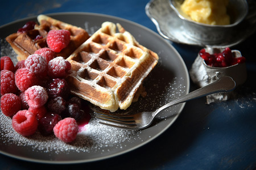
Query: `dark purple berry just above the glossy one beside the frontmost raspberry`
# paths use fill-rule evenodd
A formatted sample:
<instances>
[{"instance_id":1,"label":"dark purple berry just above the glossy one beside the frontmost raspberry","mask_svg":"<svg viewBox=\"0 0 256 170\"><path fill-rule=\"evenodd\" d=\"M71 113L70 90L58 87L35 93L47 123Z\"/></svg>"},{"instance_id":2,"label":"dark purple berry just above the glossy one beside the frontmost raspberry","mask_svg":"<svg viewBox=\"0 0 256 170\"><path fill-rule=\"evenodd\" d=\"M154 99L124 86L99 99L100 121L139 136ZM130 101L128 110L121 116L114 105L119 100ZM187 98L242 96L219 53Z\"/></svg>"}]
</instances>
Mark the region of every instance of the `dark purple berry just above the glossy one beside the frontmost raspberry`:
<instances>
[{"instance_id":1,"label":"dark purple berry just above the glossy one beside the frontmost raspberry","mask_svg":"<svg viewBox=\"0 0 256 170\"><path fill-rule=\"evenodd\" d=\"M47 103L49 111L61 114L66 109L66 101L62 97L50 99Z\"/></svg>"}]
</instances>

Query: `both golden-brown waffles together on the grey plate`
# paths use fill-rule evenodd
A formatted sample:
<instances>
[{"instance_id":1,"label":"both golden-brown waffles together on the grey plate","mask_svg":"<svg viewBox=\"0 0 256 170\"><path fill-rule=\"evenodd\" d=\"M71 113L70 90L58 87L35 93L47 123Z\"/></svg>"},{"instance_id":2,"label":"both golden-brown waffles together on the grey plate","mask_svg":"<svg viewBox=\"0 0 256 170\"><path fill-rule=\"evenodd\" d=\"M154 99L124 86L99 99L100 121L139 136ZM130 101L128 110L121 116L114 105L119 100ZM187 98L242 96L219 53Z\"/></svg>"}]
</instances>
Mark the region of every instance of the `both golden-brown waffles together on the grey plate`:
<instances>
[{"instance_id":1,"label":"both golden-brown waffles together on the grey plate","mask_svg":"<svg viewBox=\"0 0 256 170\"><path fill-rule=\"evenodd\" d=\"M89 37L84 29L46 15L39 15L38 22L31 31L6 37L18 60L46 47L49 30L67 29L71 41L57 56L71 63L67 81L73 95L114 112L127 109L143 94L142 82L158 62L158 55L140 45L120 24L102 23ZM43 38L35 40L38 35Z\"/></svg>"}]
</instances>

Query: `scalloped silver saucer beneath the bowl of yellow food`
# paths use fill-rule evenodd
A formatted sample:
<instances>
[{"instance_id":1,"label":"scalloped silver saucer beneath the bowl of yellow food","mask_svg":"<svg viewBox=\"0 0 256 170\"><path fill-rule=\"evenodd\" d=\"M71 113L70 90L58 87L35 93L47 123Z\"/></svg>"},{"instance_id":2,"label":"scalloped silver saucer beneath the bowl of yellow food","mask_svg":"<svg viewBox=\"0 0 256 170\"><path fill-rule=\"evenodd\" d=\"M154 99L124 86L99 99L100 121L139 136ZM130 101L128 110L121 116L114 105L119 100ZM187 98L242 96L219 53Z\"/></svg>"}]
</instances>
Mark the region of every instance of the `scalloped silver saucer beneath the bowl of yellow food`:
<instances>
[{"instance_id":1,"label":"scalloped silver saucer beneath the bowl of yellow food","mask_svg":"<svg viewBox=\"0 0 256 170\"><path fill-rule=\"evenodd\" d=\"M160 35L164 38L180 44L216 47L234 46L252 35L256 30L256 3L247 1L249 13L239 27L218 44L207 44L188 35L188 30L183 27L183 22L172 10L169 0L151 0L146 5L146 14L154 22ZM209 43L209 42L208 42Z\"/></svg>"}]
</instances>

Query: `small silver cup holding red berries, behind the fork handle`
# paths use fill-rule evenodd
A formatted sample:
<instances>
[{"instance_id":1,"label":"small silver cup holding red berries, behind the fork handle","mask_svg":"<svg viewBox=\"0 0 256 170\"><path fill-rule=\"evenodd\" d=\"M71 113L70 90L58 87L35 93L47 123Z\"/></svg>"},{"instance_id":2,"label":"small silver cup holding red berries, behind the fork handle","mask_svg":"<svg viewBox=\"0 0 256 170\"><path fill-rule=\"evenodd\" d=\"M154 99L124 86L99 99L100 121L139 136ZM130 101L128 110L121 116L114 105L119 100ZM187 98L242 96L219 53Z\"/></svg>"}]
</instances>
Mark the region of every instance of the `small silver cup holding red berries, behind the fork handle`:
<instances>
[{"instance_id":1,"label":"small silver cup holding red berries, behind the fork handle","mask_svg":"<svg viewBox=\"0 0 256 170\"><path fill-rule=\"evenodd\" d=\"M220 53L225 48L204 48L205 52L210 54ZM232 50L232 55L234 58L241 57L242 54L238 50ZM197 84L200 87L207 86L209 83L216 81L222 76L230 76L236 82L236 87L241 86L245 83L247 79L246 72L246 63L237 63L236 65L228 67L211 67L208 66L204 59L198 54L195 61L192 64L191 69L189 70L189 75L193 83ZM217 103L221 101L228 100L234 95L232 92L221 92L217 94L208 95L206 97L207 104Z\"/></svg>"}]
</instances>

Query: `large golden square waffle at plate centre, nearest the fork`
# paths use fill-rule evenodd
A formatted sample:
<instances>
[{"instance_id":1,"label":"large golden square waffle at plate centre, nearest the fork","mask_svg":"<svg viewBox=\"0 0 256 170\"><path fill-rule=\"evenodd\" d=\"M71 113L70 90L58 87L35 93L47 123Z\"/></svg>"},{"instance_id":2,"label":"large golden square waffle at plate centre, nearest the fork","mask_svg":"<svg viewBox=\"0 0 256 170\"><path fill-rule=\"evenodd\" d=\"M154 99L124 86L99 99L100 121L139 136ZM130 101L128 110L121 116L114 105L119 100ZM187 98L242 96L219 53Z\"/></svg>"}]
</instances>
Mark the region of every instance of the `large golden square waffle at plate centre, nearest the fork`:
<instances>
[{"instance_id":1,"label":"large golden square waffle at plate centre, nearest the fork","mask_svg":"<svg viewBox=\"0 0 256 170\"><path fill-rule=\"evenodd\" d=\"M72 66L67 78L72 94L114 112L131 105L158 55L120 24L104 22L67 60Z\"/></svg>"}]
</instances>

